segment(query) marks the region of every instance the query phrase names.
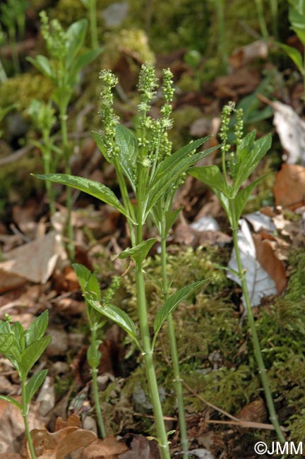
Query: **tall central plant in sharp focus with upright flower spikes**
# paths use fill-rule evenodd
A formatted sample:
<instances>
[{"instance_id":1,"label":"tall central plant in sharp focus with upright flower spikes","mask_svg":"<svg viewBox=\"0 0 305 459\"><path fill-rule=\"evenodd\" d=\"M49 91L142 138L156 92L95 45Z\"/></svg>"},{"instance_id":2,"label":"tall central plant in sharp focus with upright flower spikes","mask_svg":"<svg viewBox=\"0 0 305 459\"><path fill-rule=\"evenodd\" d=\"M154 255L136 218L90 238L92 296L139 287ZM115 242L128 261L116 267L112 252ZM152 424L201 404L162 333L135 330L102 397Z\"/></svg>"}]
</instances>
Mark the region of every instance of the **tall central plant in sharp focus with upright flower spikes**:
<instances>
[{"instance_id":1,"label":"tall central plant in sharp focus with upright flower spikes","mask_svg":"<svg viewBox=\"0 0 305 459\"><path fill-rule=\"evenodd\" d=\"M169 459L169 442L153 361L155 341L169 314L172 314L181 300L203 285L205 281L183 287L167 298L155 317L154 335L151 338L143 263L156 239L143 239L143 227L162 196L167 195L173 186L177 186L177 181L184 177L188 169L213 149L196 153L196 149L208 139L201 138L180 148L176 153L170 153L167 137L160 136L160 133L171 127L172 122L167 116L155 120L148 114L157 88L157 78L152 65L145 64L140 71L137 136L131 130L119 125L114 115L112 88L116 85L117 78L110 71L102 71L100 77L103 83L101 113L104 133L95 132L93 137L106 160L114 165L122 203L107 186L83 177L66 174L37 175L36 177L85 191L104 203L112 205L127 218L131 248L123 251L119 258L131 258L135 264L140 335L131 318L119 307L112 304L101 304L94 292L88 292L85 298L92 308L118 323L131 336L143 354L150 399L155 415L157 439L162 459ZM136 198L136 204L128 192L126 181Z\"/></svg>"}]
</instances>

